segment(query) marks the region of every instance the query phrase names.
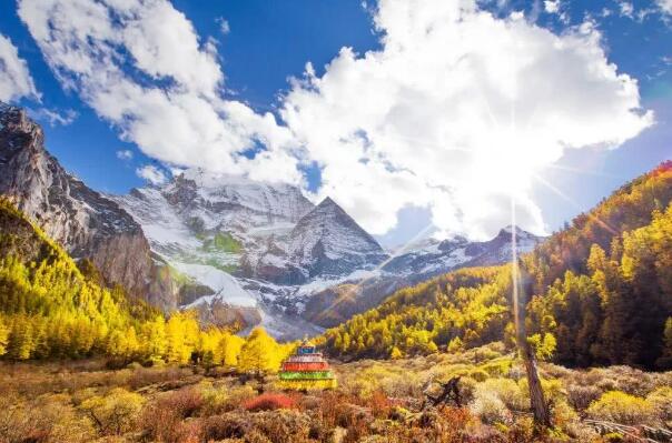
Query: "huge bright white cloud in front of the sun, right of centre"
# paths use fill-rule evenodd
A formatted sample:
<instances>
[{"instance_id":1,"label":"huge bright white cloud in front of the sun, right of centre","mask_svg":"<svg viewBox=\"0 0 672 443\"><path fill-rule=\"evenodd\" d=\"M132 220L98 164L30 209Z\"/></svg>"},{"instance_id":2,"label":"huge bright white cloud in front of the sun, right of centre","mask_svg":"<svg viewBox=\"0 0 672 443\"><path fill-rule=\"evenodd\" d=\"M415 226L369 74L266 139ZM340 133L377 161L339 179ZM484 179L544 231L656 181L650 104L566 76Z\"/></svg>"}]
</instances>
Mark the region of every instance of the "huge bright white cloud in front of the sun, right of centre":
<instances>
[{"instance_id":1,"label":"huge bright white cloud in front of the sun, right of centre","mask_svg":"<svg viewBox=\"0 0 672 443\"><path fill-rule=\"evenodd\" d=\"M407 205L444 232L544 230L532 174L566 150L617 147L653 122L591 24L556 36L474 1L382 0L383 49L307 66L281 114L334 197L374 233Z\"/></svg>"}]
</instances>

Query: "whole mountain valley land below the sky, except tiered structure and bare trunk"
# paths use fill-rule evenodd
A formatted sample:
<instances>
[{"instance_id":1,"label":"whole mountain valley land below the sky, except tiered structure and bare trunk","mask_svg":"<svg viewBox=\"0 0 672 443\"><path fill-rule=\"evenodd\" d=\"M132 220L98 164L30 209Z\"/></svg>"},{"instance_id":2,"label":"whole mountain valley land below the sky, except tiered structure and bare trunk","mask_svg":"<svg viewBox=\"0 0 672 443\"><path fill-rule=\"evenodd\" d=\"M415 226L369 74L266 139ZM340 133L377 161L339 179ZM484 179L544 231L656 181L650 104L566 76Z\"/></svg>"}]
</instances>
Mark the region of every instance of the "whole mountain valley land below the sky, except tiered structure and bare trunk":
<instances>
[{"instance_id":1,"label":"whole mountain valley land below the sky, except tiered structure and bare trunk","mask_svg":"<svg viewBox=\"0 0 672 443\"><path fill-rule=\"evenodd\" d=\"M335 201L289 185L192 169L97 193L21 110L0 122L8 442L671 435L670 162L546 239L507 226L391 253ZM514 336L514 239L546 429ZM338 387L277 384L305 335Z\"/></svg>"}]
</instances>

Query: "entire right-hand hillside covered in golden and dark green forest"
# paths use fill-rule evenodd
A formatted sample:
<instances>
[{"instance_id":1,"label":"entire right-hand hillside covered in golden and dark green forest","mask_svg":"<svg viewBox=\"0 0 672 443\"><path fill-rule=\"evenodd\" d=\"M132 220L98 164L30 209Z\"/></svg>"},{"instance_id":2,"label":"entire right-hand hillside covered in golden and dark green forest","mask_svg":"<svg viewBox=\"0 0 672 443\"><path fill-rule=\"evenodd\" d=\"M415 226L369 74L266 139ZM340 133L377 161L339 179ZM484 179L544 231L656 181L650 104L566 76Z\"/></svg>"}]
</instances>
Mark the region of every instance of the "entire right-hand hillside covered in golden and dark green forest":
<instances>
[{"instance_id":1,"label":"entire right-hand hillside covered in golden and dark green forest","mask_svg":"<svg viewBox=\"0 0 672 443\"><path fill-rule=\"evenodd\" d=\"M672 162L627 183L522 259L540 354L566 365L672 363ZM510 266L403 289L328 330L332 355L401 358L510 341Z\"/></svg>"}]
</instances>

